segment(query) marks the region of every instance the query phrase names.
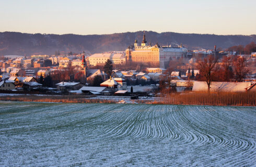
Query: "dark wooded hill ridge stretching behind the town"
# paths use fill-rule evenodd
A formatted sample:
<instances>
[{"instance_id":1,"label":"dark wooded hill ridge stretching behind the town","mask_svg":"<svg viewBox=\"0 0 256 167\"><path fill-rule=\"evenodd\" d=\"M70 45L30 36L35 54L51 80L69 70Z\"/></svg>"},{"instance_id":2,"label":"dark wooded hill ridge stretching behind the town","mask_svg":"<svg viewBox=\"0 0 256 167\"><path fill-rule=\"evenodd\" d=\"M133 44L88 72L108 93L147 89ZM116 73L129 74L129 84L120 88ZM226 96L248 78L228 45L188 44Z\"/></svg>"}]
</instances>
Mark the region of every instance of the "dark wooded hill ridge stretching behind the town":
<instances>
[{"instance_id":1,"label":"dark wooded hill ridge stretching behind the town","mask_svg":"<svg viewBox=\"0 0 256 167\"><path fill-rule=\"evenodd\" d=\"M146 31L146 40L159 45L172 46L182 43L189 50L213 49L214 45L223 49L234 45L256 43L256 35L214 35L214 34L185 34L174 32L157 33ZM114 33L104 35L76 34L29 34L20 32L0 32L0 55L32 55L54 54L83 51L97 53L104 51L124 51L134 43L136 38L142 41L142 31Z\"/></svg>"}]
</instances>

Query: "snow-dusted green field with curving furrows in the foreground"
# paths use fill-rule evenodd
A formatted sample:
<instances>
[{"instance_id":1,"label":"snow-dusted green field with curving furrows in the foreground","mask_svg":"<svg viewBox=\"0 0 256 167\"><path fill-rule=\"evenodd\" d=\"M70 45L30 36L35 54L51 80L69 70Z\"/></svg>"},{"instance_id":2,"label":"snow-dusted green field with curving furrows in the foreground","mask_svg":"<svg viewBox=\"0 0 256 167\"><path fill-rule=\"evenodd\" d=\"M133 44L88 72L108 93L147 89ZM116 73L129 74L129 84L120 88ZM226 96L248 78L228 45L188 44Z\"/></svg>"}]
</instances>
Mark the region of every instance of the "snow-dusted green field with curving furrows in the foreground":
<instances>
[{"instance_id":1,"label":"snow-dusted green field with curving furrows in the foreground","mask_svg":"<svg viewBox=\"0 0 256 167\"><path fill-rule=\"evenodd\" d=\"M0 102L0 166L255 166L256 108Z\"/></svg>"}]
</instances>

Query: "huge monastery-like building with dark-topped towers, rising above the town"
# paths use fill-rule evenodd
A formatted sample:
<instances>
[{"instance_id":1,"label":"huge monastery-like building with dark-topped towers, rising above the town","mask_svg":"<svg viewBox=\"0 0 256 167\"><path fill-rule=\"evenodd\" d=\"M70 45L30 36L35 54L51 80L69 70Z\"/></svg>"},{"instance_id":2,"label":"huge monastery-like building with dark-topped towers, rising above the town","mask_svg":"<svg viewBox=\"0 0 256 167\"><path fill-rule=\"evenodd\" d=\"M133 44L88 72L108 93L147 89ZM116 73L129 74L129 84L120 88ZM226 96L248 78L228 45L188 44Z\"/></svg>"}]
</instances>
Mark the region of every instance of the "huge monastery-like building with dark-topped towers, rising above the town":
<instances>
[{"instance_id":1,"label":"huge monastery-like building with dark-topped towers, rising above the town","mask_svg":"<svg viewBox=\"0 0 256 167\"><path fill-rule=\"evenodd\" d=\"M147 45L145 33L141 46L135 40L134 45L125 50L126 63L150 63L154 67L166 68L173 59L187 58L188 50L179 47Z\"/></svg>"}]
</instances>

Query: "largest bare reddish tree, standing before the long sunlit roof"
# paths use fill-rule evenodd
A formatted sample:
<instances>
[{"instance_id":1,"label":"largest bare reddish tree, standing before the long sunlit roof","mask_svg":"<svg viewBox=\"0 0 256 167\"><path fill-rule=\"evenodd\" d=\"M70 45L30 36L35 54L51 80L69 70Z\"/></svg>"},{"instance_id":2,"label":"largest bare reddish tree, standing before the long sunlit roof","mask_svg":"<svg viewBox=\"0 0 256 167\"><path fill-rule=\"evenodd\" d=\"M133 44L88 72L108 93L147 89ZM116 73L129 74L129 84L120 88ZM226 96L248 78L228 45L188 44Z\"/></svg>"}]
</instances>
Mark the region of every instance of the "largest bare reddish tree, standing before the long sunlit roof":
<instances>
[{"instance_id":1,"label":"largest bare reddish tree, standing before the long sunlit roof","mask_svg":"<svg viewBox=\"0 0 256 167\"><path fill-rule=\"evenodd\" d=\"M214 69L216 67L218 58L215 58L213 55L207 56L203 60L200 58L196 59L196 67L200 70L200 73L203 74L205 81L208 86L208 93L210 93L210 86L214 77Z\"/></svg>"}]
</instances>

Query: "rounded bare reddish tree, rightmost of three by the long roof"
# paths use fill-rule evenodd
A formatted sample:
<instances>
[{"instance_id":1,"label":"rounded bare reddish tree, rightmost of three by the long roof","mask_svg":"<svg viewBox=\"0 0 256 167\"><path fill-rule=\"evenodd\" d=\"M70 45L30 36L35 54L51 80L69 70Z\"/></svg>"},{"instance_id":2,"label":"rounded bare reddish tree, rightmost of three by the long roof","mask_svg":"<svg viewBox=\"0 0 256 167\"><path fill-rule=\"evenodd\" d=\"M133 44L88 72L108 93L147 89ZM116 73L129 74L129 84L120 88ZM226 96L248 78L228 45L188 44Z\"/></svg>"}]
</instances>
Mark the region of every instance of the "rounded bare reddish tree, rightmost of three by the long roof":
<instances>
[{"instance_id":1,"label":"rounded bare reddish tree, rightmost of three by the long roof","mask_svg":"<svg viewBox=\"0 0 256 167\"><path fill-rule=\"evenodd\" d=\"M241 82L243 78L245 78L246 74L249 72L249 69L247 68L246 58L242 56L236 56L233 59L233 67L236 81Z\"/></svg>"}]
</instances>

